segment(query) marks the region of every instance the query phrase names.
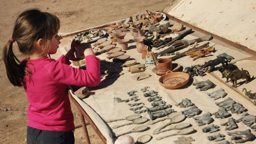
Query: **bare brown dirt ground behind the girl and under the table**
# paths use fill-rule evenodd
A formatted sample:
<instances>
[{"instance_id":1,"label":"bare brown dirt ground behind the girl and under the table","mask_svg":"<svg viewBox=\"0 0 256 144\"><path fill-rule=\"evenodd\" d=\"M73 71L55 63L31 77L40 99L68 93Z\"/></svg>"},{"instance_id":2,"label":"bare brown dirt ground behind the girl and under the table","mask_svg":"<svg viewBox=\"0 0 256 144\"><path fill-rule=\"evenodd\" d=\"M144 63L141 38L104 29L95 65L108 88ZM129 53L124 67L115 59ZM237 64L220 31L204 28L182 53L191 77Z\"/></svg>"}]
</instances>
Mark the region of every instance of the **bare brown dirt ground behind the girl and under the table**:
<instances>
[{"instance_id":1,"label":"bare brown dirt ground behind the girl and under the table","mask_svg":"<svg viewBox=\"0 0 256 144\"><path fill-rule=\"evenodd\" d=\"M28 8L39 8L42 11L53 13L61 21L59 32L72 32L125 19L139 11L161 11L169 3L169 0L0 0L0 91L2 92L0 96L0 143L26 143L28 107L26 93L23 88L11 85L2 60L3 46L12 36L14 21L22 11ZM16 43L14 51L16 51L16 56L21 58L17 52ZM78 110L73 102L71 105L75 126L80 125ZM102 143L90 126L88 126L88 132L92 144ZM85 143L82 128L77 128L74 135L76 144Z\"/></svg>"}]
</instances>

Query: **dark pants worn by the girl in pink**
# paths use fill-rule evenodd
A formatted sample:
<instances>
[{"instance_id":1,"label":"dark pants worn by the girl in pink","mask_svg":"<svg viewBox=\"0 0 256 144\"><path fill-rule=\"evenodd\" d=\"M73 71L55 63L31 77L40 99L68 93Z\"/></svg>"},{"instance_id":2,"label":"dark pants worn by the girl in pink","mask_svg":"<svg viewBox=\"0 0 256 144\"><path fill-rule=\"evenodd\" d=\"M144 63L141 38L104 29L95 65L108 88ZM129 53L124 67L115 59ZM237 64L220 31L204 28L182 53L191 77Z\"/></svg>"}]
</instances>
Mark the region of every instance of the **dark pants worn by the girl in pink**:
<instances>
[{"instance_id":1,"label":"dark pants worn by the girl in pink","mask_svg":"<svg viewBox=\"0 0 256 144\"><path fill-rule=\"evenodd\" d=\"M74 133L39 130L27 127L27 144L74 144Z\"/></svg>"}]
</instances>

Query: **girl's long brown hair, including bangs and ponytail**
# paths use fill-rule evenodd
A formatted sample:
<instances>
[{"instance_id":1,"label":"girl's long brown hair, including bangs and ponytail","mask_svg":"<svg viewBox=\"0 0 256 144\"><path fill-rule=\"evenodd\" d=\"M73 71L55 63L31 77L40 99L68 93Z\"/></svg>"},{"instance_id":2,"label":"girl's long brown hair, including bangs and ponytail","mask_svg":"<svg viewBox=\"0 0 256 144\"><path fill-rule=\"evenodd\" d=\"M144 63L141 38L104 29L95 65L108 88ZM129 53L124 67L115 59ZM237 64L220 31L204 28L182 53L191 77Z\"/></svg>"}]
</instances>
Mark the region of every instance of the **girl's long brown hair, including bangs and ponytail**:
<instances>
[{"instance_id":1,"label":"girl's long brown hair, including bangs and ponytail","mask_svg":"<svg viewBox=\"0 0 256 144\"><path fill-rule=\"evenodd\" d=\"M22 12L16 19L12 39L18 44L19 51L29 59L34 53L34 45L42 38L43 47L50 45L50 40L60 28L59 19L50 13L41 12L39 9L29 9ZM26 61L22 62L13 53L13 42L9 40L3 48L3 61L8 79L14 86L21 87L27 69Z\"/></svg>"}]
</instances>

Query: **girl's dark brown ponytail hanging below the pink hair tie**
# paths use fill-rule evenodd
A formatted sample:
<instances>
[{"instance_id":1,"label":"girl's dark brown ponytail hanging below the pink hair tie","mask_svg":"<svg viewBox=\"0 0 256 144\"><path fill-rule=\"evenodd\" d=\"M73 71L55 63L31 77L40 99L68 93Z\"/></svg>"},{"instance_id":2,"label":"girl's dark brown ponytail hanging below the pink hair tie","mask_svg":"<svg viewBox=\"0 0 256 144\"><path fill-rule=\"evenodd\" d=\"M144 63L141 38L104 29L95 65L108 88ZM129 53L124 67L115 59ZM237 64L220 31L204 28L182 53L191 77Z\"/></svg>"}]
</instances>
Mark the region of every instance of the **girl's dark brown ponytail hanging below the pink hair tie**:
<instances>
[{"instance_id":1,"label":"girl's dark brown ponytail hanging below the pink hair tie","mask_svg":"<svg viewBox=\"0 0 256 144\"><path fill-rule=\"evenodd\" d=\"M26 62L20 62L13 53L13 42L9 40L3 48L3 61L9 81L14 85L21 87L23 85L26 72L30 75L30 70L26 69Z\"/></svg>"}]
</instances>

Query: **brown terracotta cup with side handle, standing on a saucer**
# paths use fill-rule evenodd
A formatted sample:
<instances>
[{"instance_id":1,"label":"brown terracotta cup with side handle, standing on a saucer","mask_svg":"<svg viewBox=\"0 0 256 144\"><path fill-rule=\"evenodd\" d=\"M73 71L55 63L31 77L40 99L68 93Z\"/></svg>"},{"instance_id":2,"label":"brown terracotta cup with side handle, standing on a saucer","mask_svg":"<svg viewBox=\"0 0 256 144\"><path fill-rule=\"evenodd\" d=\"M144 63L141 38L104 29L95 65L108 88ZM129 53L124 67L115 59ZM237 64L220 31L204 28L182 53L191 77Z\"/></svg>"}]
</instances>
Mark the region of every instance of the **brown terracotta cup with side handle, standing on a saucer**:
<instances>
[{"instance_id":1,"label":"brown terracotta cup with side handle, standing on a saucer","mask_svg":"<svg viewBox=\"0 0 256 144\"><path fill-rule=\"evenodd\" d=\"M172 59L163 58L160 60L154 61L154 65L159 69L160 72L167 72L172 70Z\"/></svg>"}]
</instances>

